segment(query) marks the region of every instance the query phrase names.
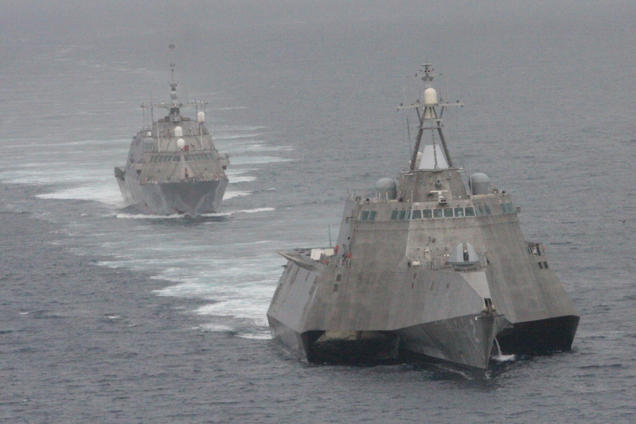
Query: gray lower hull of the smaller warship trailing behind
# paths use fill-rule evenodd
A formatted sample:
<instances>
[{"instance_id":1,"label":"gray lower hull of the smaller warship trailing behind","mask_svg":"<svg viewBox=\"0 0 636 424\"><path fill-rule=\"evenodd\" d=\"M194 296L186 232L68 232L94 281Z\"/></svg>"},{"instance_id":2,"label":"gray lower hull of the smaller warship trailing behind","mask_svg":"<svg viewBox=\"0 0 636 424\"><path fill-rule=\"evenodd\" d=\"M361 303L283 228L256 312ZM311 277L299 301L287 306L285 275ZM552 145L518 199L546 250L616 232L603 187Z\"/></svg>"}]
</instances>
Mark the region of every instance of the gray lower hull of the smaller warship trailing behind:
<instances>
[{"instance_id":1,"label":"gray lower hull of the smaller warship trailing behind","mask_svg":"<svg viewBox=\"0 0 636 424\"><path fill-rule=\"evenodd\" d=\"M117 172L115 174L127 205L156 215L218 212L228 185L228 181L223 179L141 184L136 179L130 181L120 178Z\"/></svg>"}]
</instances>

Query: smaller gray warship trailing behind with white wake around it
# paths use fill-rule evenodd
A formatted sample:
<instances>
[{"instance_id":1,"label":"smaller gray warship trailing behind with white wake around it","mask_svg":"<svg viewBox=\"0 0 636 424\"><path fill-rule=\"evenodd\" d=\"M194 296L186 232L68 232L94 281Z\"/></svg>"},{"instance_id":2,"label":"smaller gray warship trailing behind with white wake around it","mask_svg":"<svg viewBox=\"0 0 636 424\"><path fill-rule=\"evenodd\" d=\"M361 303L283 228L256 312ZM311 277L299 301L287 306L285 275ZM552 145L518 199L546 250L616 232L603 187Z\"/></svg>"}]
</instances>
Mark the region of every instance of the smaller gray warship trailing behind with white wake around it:
<instances>
[{"instance_id":1,"label":"smaller gray warship trailing behind with white wake around it","mask_svg":"<svg viewBox=\"0 0 636 424\"><path fill-rule=\"evenodd\" d=\"M174 44L170 44L170 101L142 104L144 124L132 139L125 167L115 177L127 205L158 215L217 212L228 177L228 155L219 155L205 127L205 101L182 103L174 79ZM196 120L181 116L194 107ZM155 109L168 115L155 120ZM148 112L148 114L146 114ZM146 116L148 115L148 116Z\"/></svg>"}]
</instances>

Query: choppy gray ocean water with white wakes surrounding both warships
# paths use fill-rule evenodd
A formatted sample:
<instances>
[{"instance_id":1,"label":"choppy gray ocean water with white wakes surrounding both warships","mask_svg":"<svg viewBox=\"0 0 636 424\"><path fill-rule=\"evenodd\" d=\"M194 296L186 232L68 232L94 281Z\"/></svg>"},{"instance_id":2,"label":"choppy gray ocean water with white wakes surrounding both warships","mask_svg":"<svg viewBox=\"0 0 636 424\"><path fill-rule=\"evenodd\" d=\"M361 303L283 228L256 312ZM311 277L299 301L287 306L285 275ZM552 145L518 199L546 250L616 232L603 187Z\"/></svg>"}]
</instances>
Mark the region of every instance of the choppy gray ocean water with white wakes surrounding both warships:
<instances>
[{"instance_id":1,"label":"choppy gray ocean water with white wakes surrounding both warships","mask_svg":"<svg viewBox=\"0 0 636 424\"><path fill-rule=\"evenodd\" d=\"M3 7L1 422L636 420L630 3ZM168 43L231 155L222 210L196 219L130 212L113 175L139 105L167 97ZM406 166L396 106L422 60L466 104L445 114L455 163L511 193L548 247L581 315L572 352L500 357L478 381L273 344L275 249L326 245L347 189Z\"/></svg>"}]
</instances>

